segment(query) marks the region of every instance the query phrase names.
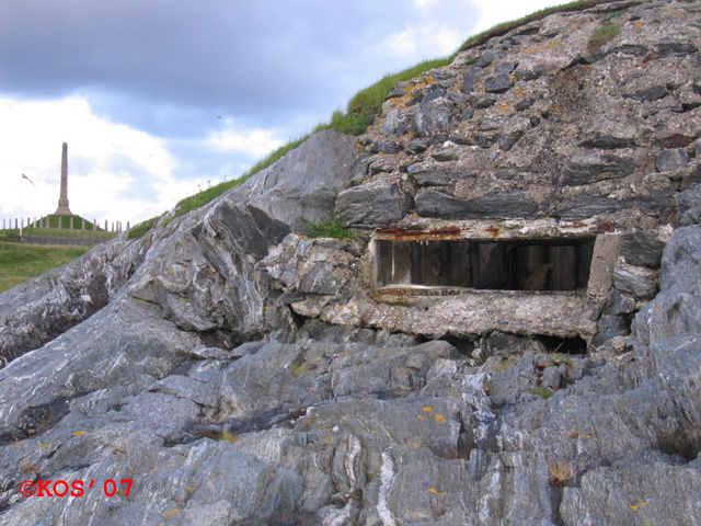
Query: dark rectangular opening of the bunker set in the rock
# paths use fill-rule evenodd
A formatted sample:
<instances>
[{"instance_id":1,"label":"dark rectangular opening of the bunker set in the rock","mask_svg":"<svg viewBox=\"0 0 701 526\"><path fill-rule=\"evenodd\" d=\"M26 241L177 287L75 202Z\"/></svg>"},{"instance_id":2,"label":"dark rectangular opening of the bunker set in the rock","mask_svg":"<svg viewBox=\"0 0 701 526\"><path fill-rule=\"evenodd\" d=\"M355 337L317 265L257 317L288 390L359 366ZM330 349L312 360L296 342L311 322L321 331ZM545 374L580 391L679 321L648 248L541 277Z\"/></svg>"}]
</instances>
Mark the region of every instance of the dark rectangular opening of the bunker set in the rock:
<instances>
[{"instance_id":1,"label":"dark rectangular opening of the bunker set in the rock","mask_svg":"<svg viewBox=\"0 0 701 526\"><path fill-rule=\"evenodd\" d=\"M586 291L595 236L376 239L377 287Z\"/></svg>"}]
</instances>

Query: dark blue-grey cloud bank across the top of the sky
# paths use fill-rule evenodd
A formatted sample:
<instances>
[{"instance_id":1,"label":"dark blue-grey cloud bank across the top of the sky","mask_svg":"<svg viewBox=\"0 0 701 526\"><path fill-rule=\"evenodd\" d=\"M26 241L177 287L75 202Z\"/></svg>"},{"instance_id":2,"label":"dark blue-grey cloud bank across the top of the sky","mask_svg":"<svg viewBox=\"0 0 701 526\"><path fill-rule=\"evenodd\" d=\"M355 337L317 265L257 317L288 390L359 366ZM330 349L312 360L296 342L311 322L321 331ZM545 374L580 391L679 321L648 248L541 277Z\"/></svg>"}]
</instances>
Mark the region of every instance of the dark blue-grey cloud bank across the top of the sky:
<instances>
[{"instance_id":1,"label":"dark blue-grey cloud bank across the top of the sky","mask_svg":"<svg viewBox=\"0 0 701 526\"><path fill-rule=\"evenodd\" d=\"M159 135L204 129L221 113L269 125L336 107L401 67L380 43L428 19L461 23L467 36L474 11L455 0L1 2L0 91L101 92L108 114L126 99L129 124Z\"/></svg>"}]
</instances>

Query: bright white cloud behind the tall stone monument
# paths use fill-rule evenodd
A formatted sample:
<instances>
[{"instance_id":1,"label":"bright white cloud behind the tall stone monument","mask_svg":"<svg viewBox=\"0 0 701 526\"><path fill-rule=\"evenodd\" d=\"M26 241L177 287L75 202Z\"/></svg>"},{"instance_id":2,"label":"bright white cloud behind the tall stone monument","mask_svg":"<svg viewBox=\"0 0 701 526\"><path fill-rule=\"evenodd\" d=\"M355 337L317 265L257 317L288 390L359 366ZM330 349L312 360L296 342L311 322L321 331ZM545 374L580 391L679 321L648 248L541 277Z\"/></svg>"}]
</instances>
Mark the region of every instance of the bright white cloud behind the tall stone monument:
<instances>
[{"instance_id":1,"label":"bright white cloud behind the tall stone monument","mask_svg":"<svg viewBox=\"0 0 701 526\"><path fill-rule=\"evenodd\" d=\"M172 176L175 163L162 139L96 116L80 96L0 98L0 122L1 218L18 217L21 201L25 217L56 209L62 142L68 142L70 208L87 219L134 224L171 208L192 190L192 182Z\"/></svg>"}]
</instances>

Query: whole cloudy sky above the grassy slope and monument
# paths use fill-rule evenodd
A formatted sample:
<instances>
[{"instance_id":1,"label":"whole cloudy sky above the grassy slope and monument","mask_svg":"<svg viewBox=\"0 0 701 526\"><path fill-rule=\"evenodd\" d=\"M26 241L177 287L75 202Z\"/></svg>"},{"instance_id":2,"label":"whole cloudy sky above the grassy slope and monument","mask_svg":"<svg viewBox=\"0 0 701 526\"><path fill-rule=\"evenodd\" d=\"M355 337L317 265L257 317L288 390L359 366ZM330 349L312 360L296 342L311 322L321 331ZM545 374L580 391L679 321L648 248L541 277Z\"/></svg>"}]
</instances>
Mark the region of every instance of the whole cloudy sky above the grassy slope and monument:
<instances>
[{"instance_id":1,"label":"whole cloudy sky above the grassy slope and monument","mask_svg":"<svg viewBox=\"0 0 701 526\"><path fill-rule=\"evenodd\" d=\"M559 3L2 0L0 225L56 210L64 142L71 211L135 225L238 178L383 75Z\"/></svg>"}]
</instances>

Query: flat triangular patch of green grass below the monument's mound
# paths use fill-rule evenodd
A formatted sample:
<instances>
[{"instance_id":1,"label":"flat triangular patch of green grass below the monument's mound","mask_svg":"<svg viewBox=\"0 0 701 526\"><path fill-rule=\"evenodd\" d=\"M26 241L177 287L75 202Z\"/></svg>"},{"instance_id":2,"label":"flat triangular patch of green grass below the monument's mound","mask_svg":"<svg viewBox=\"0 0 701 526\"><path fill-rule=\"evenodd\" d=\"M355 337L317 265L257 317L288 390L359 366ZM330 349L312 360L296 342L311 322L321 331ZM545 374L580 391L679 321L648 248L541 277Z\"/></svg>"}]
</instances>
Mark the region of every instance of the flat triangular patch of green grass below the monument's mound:
<instances>
[{"instance_id":1,"label":"flat triangular patch of green grass below the monument's mound","mask_svg":"<svg viewBox=\"0 0 701 526\"><path fill-rule=\"evenodd\" d=\"M70 263L90 247L39 247L0 241L0 293Z\"/></svg>"}]
</instances>

